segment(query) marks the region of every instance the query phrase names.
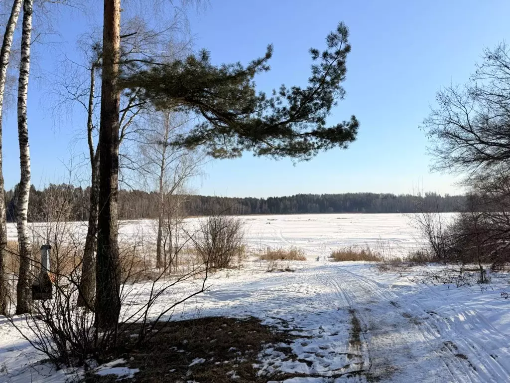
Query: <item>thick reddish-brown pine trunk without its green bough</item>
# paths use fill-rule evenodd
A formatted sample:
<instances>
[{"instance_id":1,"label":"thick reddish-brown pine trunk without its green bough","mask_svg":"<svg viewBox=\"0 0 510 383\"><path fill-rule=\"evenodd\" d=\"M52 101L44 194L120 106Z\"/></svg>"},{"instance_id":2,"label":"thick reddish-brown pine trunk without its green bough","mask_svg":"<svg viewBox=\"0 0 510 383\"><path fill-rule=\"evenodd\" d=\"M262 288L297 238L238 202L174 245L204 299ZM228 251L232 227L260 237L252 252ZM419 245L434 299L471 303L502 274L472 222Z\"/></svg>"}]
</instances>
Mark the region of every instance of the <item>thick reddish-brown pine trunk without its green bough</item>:
<instances>
[{"instance_id":1,"label":"thick reddish-brown pine trunk without its green bough","mask_svg":"<svg viewBox=\"0 0 510 383\"><path fill-rule=\"evenodd\" d=\"M97 327L113 327L120 315L118 234L120 0L105 0L99 126L99 213L95 314Z\"/></svg>"}]
</instances>

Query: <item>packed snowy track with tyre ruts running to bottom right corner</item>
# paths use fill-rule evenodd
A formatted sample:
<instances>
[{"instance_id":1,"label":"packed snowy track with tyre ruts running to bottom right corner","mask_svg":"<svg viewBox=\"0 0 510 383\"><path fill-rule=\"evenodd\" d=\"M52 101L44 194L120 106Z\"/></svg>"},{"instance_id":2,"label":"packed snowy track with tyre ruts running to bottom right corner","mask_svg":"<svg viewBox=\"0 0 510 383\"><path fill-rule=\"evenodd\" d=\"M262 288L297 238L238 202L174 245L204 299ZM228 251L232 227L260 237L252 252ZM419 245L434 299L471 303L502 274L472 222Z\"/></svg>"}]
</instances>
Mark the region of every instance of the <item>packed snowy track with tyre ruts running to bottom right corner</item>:
<instances>
[{"instance_id":1,"label":"packed snowy track with tyre ruts running to bottom right corner","mask_svg":"<svg viewBox=\"0 0 510 383\"><path fill-rule=\"evenodd\" d=\"M369 345L371 372L380 381L385 378L397 381L394 379L398 376L403 378L401 381L419 376L418 381L462 383L496 383L509 379L508 363L502 365L491 355L491 350L496 349L507 356L509 340L488 326L474 310L452 302L449 317L444 317L424 308L418 300L405 299L342 266L318 267L315 277L337 291L339 308L348 307L360 313L365 342ZM402 300L401 304L397 303ZM483 334L483 339L476 339L473 334Z\"/></svg>"}]
</instances>

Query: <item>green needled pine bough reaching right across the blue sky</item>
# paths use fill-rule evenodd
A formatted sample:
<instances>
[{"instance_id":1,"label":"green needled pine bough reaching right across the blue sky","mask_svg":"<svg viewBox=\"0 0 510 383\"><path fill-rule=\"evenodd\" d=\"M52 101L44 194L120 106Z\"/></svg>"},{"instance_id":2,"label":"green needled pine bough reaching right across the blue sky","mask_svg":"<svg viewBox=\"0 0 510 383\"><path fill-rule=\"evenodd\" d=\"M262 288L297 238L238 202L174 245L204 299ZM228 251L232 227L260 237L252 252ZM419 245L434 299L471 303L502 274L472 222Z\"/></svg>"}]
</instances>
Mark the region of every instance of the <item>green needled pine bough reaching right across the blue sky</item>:
<instances>
[{"instance_id":1,"label":"green needled pine bough reaching right across the blue sky","mask_svg":"<svg viewBox=\"0 0 510 383\"><path fill-rule=\"evenodd\" d=\"M126 75L123 87L143 89L142 99L157 108L182 108L202 117L202 122L173 145L203 146L215 158L241 156L252 151L257 156L310 159L319 151L346 148L354 141L358 120L327 127L331 108L343 99L341 83L350 52L348 29L340 23L326 38L327 49L311 49L312 75L308 86L273 90L271 97L257 93L253 78L269 70L272 46L264 57L246 67L240 63L213 65L210 55L189 56L170 64L150 64L149 68Z\"/></svg>"}]
</instances>

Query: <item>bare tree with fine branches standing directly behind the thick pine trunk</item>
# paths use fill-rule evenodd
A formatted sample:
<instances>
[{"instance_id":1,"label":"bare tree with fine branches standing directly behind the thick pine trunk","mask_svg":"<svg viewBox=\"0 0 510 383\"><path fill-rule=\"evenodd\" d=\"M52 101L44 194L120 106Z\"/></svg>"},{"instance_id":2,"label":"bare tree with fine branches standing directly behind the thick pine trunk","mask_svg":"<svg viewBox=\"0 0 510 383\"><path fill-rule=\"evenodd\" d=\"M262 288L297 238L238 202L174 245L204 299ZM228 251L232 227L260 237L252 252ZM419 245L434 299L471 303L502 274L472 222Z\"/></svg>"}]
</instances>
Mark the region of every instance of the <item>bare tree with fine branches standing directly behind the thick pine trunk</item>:
<instances>
[{"instance_id":1,"label":"bare tree with fine branches standing directly behind the thick pine trunk","mask_svg":"<svg viewBox=\"0 0 510 383\"><path fill-rule=\"evenodd\" d=\"M124 34L121 36L121 70L132 70L137 58L140 57L163 57L165 52L162 40L170 38L169 33L176 33L182 27L181 19L175 16L163 30L155 30L147 27L146 23L138 17L128 20L121 25ZM185 50L189 40L171 40L171 51L165 53L166 59L176 57ZM166 42L168 44L168 41ZM90 42L84 42L87 65L82 65L71 60L64 61L64 73L58 81L54 91L57 96L56 115L65 114L68 104L80 105L87 115L87 143L88 157L91 169L91 186L89 199L89 220L85 250L83 256L83 270L78 304L84 305L84 299L93 301L95 293L95 251L97 235L97 216L99 211L98 201L98 180L99 180L99 147L95 148L95 139L98 116L96 115L96 103L100 99L97 94L96 73L101 71L101 57L103 55L100 43L95 36L90 37ZM90 54L92 53L92 54ZM85 70L84 70L85 69ZM88 76L88 83L85 81L85 71ZM132 142L139 142L140 132L145 129L141 127L138 119L144 120L147 114L147 103L138 99L138 91L122 91L120 94L119 110L119 171L124 173L137 171L140 164L131 154L133 151ZM124 148L121 145L124 143ZM124 153L123 153L124 152ZM122 174L122 173L121 173Z\"/></svg>"}]
</instances>

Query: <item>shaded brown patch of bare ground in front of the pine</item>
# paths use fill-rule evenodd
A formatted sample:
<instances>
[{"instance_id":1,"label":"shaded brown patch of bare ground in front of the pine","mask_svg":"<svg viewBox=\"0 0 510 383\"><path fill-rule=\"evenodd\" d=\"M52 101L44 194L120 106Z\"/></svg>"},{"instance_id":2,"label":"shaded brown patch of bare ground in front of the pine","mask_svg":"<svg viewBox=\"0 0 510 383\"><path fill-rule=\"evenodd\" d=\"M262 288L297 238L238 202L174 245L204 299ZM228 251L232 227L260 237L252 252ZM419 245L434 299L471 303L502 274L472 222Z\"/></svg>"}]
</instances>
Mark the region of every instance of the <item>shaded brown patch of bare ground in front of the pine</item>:
<instances>
[{"instance_id":1,"label":"shaded brown patch of bare ground in front of the pine","mask_svg":"<svg viewBox=\"0 0 510 383\"><path fill-rule=\"evenodd\" d=\"M123 357L140 371L123 382L267 382L253 364L267 346L288 343L296 337L264 326L255 318L208 317L169 322L157 336ZM291 349L288 348L289 353ZM88 383L106 383L117 376L90 375Z\"/></svg>"}]
</instances>

